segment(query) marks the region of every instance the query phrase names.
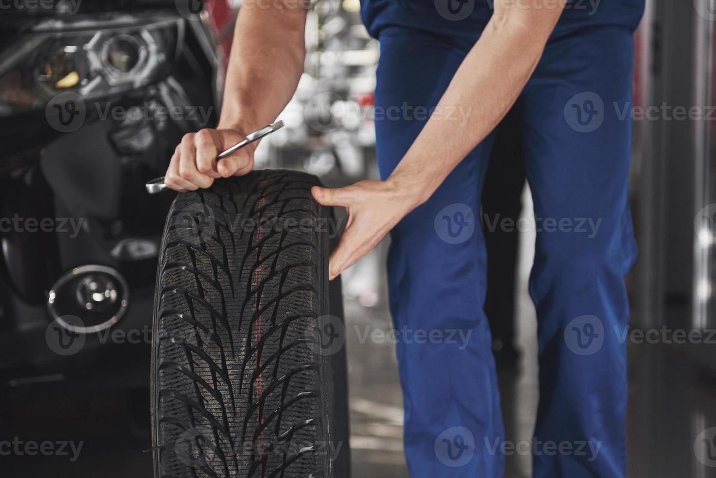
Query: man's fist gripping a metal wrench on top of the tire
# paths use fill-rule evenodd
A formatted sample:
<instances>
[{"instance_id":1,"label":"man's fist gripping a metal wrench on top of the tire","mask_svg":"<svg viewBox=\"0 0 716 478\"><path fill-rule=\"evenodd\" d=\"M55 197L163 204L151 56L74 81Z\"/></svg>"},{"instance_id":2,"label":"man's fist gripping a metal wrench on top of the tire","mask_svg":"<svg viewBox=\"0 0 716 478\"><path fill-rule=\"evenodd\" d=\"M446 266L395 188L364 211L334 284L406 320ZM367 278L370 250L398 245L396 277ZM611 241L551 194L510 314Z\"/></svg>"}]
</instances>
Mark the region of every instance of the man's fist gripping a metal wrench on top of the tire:
<instances>
[{"instance_id":1,"label":"man's fist gripping a metal wrench on top of the tire","mask_svg":"<svg viewBox=\"0 0 716 478\"><path fill-rule=\"evenodd\" d=\"M253 168L256 143L246 145L231 155L216 160L218 155L246 136L236 130L200 130L184 135L165 174L164 183L178 192L209 187L217 177L241 176Z\"/></svg>"}]
</instances>

